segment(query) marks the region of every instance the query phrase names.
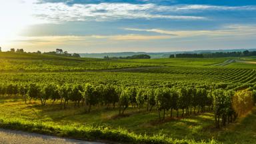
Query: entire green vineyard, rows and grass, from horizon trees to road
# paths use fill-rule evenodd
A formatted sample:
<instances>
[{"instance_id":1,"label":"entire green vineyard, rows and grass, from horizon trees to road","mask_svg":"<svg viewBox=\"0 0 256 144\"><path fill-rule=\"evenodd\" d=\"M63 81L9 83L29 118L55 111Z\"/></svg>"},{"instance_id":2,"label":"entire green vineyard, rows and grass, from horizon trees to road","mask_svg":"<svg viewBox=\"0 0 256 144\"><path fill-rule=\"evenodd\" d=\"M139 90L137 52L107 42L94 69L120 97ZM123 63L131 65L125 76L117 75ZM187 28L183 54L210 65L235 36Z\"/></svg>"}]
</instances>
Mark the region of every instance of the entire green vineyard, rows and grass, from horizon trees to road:
<instances>
[{"instance_id":1,"label":"entire green vineyard, rows and grass, from horizon trees to road","mask_svg":"<svg viewBox=\"0 0 256 144\"><path fill-rule=\"evenodd\" d=\"M0 125L127 143L233 143L219 133L253 109L256 70L217 64L225 61L0 53Z\"/></svg>"}]
</instances>

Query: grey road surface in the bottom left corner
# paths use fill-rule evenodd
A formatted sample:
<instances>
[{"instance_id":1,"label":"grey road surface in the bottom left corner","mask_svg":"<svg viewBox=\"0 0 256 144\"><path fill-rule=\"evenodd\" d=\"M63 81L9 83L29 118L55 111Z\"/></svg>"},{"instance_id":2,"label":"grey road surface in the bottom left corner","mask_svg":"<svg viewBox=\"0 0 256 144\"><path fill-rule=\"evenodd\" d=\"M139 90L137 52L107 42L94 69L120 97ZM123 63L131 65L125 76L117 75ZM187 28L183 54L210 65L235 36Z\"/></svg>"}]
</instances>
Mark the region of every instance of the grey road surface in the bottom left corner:
<instances>
[{"instance_id":1,"label":"grey road surface in the bottom left corner","mask_svg":"<svg viewBox=\"0 0 256 144\"><path fill-rule=\"evenodd\" d=\"M79 141L75 139L64 139L59 137L53 137L48 135L41 135L37 133L26 133L23 131L11 131L0 129L0 143L3 144L67 144L67 143L85 143L85 144L103 144L98 142Z\"/></svg>"}]
</instances>

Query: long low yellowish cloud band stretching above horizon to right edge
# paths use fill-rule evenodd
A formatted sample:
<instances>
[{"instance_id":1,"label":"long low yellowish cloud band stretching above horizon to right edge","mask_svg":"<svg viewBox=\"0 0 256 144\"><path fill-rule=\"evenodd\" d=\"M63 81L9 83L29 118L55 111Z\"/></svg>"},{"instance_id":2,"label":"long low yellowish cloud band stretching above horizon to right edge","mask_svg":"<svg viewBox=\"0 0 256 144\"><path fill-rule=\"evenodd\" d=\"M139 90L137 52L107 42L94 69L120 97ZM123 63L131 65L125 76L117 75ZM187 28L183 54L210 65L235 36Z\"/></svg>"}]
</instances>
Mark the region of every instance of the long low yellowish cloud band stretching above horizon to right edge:
<instances>
[{"instance_id":1,"label":"long low yellowish cloud band stretching above horizon to right edge","mask_svg":"<svg viewBox=\"0 0 256 144\"><path fill-rule=\"evenodd\" d=\"M212 39L223 39L232 37L254 37L256 35L256 25L227 25L217 30L191 30L191 31L170 31L165 29L134 29L125 28L127 31L145 31L157 33L160 35L53 35L53 36L37 36L37 37L16 37L11 43L19 45L65 45L77 44L81 45L97 45L103 41L150 41L159 39L183 39L185 37L211 37ZM197 39L198 40L198 39Z\"/></svg>"}]
</instances>

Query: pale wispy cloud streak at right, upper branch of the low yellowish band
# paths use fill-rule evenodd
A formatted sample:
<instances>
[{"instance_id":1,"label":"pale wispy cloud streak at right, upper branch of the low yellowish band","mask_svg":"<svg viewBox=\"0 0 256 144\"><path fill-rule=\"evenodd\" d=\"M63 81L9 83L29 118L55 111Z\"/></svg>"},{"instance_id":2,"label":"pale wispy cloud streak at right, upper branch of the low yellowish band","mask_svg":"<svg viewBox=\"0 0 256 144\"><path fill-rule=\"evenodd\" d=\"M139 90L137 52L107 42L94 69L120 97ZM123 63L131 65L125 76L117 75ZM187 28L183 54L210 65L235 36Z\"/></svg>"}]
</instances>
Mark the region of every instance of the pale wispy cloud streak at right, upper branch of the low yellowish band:
<instances>
[{"instance_id":1,"label":"pale wispy cloud streak at right, upper branch of the low yellowish band","mask_svg":"<svg viewBox=\"0 0 256 144\"><path fill-rule=\"evenodd\" d=\"M245 36L255 35L256 25L227 25L217 30L191 30L191 31L169 31L163 29L134 29L125 28L128 31L146 31L160 33L164 35L175 35L176 37L195 37L195 36Z\"/></svg>"}]
</instances>

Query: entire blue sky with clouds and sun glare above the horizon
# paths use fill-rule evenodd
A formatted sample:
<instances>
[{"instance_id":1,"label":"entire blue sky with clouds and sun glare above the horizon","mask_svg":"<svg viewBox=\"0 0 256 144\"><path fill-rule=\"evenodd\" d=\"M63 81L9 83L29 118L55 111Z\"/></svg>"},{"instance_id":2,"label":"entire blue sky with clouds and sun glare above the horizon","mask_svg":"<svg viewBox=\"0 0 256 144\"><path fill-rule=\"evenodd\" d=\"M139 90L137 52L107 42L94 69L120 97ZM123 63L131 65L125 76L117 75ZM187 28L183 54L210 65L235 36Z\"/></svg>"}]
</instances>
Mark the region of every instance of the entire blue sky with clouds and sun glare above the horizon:
<instances>
[{"instance_id":1,"label":"entire blue sky with clouds and sun glare above the horizon","mask_svg":"<svg viewBox=\"0 0 256 144\"><path fill-rule=\"evenodd\" d=\"M0 0L0 47L105 53L256 48L252 0Z\"/></svg>"}]
</instances>

